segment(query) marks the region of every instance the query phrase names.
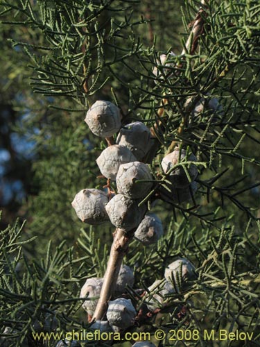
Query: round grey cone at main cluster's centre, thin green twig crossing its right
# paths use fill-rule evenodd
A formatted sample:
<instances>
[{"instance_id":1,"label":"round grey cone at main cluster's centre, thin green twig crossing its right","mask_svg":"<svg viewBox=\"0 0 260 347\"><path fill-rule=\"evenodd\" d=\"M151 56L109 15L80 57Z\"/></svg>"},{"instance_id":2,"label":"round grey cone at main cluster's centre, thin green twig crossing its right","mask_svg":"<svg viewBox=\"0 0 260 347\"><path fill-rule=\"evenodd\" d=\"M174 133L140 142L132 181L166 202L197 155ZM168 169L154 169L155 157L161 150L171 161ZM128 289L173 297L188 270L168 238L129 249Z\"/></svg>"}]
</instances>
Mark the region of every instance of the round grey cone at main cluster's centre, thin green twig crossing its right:
<instances>
[{"instance_id":1,"label":"round grey cone at main cluster's centre, thin green twig crossing its right","mask_svg":"<svg viewBox=\"0 0 260 347\"><path fill-rule=\"evenodd\" d=\"M121 164L116 175L117 192L130 198L144 198L152 189L153 183L136 183L137 180L153 180L148 165L143 162Z\"/></svg>"}]
</instances>

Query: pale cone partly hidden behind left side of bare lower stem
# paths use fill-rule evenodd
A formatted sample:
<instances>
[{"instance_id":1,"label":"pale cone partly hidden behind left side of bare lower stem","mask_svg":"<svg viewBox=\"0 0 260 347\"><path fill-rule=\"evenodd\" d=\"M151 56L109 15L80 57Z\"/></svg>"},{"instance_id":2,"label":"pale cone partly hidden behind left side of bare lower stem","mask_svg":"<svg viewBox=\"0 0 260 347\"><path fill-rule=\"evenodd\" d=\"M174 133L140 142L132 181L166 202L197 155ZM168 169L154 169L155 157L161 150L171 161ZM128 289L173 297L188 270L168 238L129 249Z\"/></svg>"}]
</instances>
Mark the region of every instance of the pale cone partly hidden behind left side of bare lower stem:
<instances>
[{"instance_id":1,"label":"pale cone partly hidden behind left side of bare lower stem","mask_svg":"<svg viewBox=\"0 0 260 347\"><path fill-rule=\"evenodd\" d=\"M89 316L93 316L94 311L96 309L96 304L98 303L98 298L101 294L101 288L103 285L103 278L88 278L85 282L85 285L81 288L80 298L85 298L87 296L87 300L84 301L82 307L89 314Z\"/></svg>"}]
</instances>

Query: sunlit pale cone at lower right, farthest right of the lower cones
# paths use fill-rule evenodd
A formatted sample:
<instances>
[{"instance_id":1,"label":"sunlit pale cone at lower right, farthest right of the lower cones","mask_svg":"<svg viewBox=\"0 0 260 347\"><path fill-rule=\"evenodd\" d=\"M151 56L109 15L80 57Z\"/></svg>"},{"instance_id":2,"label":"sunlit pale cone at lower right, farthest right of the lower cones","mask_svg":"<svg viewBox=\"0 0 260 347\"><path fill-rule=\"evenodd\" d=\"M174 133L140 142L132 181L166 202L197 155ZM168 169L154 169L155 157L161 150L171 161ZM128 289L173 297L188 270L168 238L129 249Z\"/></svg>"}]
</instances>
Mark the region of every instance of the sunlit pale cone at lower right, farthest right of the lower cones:
<instances>
[{"instance_id":1,"label":"sunlit pale cone at lower right, farthest right of the lower cones","mask_svg":"<svg viewBox=\"0 0 260 347\"><path fill-rule=\"evenodd\" d=\"M177 282L177 273L179 274L179 278L182 281L182 287L187 285L187 281L196 280L196 269L193 264L186 258L180 258L168 264L164 272L164 278L171 282L174 278L175 282Z\"/></svg>"}]
</instances>

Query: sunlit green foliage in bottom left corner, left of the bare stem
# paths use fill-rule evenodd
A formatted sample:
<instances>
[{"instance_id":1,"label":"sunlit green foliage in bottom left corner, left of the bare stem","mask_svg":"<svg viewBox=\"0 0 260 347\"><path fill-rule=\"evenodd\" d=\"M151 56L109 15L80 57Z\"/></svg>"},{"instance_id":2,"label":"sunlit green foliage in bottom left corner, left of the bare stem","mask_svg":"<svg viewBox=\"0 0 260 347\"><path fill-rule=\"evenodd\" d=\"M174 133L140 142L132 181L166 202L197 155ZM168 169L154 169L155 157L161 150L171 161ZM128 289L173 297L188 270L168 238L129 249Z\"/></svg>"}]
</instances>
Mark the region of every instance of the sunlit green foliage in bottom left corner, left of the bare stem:
<instances>
[{"instance_id":1,"label":"sunlit green foliage in bottom left corner, left of the bare stem","mask_svg":"<svg viewBox=\"0 0 260 347\"><path fill-rule=\"evenodd\" d=\"M80 287L86 278L96 275L101 261L101 253L96 260L93 257L94 235L85 245L91 251L82 257L77 248L68 248L64 240L55 250L49 242L44 258L30 260L24 246L33 242L35 237L22 241L23 232L24 225L19 226L19 223L1 231L0 337L8 338L8 346L36 346L32 332L87 327L83 312L79 310L82 303ZM106 256L105 253L104 260ZM53 323L46 325L46 319ZM6 327L10 328L8 332ZM37 346L43 346L43 343L41 341ZM53 343L51 340L44 346L53 346Z\"/></svg>"}]
</instances>

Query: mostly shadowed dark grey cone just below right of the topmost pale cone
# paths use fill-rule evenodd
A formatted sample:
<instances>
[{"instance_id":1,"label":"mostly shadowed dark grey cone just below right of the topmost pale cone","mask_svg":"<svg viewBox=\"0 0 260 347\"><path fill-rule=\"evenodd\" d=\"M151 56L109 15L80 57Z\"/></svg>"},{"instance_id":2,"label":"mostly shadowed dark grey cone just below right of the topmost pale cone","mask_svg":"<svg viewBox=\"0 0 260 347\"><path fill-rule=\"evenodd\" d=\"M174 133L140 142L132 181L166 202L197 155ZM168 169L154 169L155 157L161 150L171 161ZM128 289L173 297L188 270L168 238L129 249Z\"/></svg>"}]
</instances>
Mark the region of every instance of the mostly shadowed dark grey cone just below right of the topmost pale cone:
<instances>
[{"instance_id":1,"label":"mostly shadowed dark grey cone just below right of the topmost pale cone","mask_svg":"<svg viewBox=\"0 0 260 347\"><path fill-rule=\"evenodd\" d=\"M152 144L150 129L135 121L120 129L116 143L128 147L137 160L142 160Z\"/></svg>"}]
</instances>

